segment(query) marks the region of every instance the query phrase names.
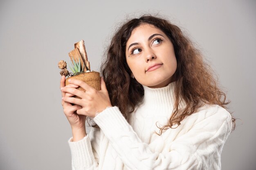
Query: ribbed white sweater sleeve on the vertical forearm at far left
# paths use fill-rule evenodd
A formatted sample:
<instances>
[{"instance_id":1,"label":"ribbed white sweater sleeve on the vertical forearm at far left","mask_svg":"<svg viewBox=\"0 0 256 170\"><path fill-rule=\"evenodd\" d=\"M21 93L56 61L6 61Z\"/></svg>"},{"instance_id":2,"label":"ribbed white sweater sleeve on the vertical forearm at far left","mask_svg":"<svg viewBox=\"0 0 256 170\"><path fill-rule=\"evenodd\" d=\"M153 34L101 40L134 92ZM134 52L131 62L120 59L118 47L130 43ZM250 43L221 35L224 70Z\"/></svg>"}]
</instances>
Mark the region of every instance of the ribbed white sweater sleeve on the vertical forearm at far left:
<instances>
[{"instance_id":1,"label":"ribbed white sweater sleeve on the vertical forearm at far left","mask_svg":"<svg viewBox=\"0 0 256 170\"><path fill-rule=\"evenodd\" d=\"M71 150L72 170L97 170L99 165L100 131L91 127L90 133L83 139L68 140Z\"/></svg>"}]
</instances>

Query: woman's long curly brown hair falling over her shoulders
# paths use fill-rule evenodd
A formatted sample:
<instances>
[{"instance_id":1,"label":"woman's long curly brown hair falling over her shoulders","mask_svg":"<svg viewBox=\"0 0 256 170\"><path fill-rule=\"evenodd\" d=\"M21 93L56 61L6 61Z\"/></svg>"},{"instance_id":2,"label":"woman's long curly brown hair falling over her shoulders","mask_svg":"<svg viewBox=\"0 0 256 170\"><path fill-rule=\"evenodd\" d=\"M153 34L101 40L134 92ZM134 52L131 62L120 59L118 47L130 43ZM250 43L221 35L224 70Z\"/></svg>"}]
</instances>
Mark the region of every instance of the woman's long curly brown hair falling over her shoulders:
<instances>
[{"instance_id":1,"label":"woman's long curly brown hair falling over her shoulders","mask_svg":"<svg viewBox=\"0 0 256 170\"><path fill-rule=\"evenodd\" d=\"M195 113L202 103L227 109L225 105L230 101L225 102L226 95L217 85L218 78L216 80L210 65L203 61L200 50L193 46L192 41L178 26L168 20L153 15L142 15L128 20L117 29L101 65L101 75L106 82L111 104L119 107L126 120L128 114L135 110L144 97L143 86L130 77L132 72L125 56L126 43L132 31L141 24L152 24L162 30L173 43L177 59L177 70L173 74L176 81L174 109L169 124L159 128L158 135L161 135L164 129L172 128L173 124L180 125L180 122ZM181 99L186 103L184 109L179 109ZM235 120L232 117L233 130Z\"/></svg>"}]
</instances>

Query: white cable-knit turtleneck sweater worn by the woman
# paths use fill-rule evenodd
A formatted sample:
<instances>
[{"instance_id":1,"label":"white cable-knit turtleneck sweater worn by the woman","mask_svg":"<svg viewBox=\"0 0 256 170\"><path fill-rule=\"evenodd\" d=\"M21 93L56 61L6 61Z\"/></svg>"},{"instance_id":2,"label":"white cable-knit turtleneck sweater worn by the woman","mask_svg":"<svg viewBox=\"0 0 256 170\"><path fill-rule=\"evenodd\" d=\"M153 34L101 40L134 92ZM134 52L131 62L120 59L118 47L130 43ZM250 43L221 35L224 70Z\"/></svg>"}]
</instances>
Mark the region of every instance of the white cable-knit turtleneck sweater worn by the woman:
<instances>
[{"instance_id":1,"label":"white cable-knit turtleneck sweater worn by the woman","mask_svg":"<svg viewBox=\"0 0 256 170\"><path fill-rule=\"evenodd\" d=\"M118 107L95 118L99 128L77 142L68 140L72 170L219 170L220 154L231 131L230 113L218 105L204 105L167 129L173 111L174 83L144 87L144 100L128 121ZM157 123L157 126L156 126ZM175 126L173 126L175 127Z\"/></svg>"}]
</instances>

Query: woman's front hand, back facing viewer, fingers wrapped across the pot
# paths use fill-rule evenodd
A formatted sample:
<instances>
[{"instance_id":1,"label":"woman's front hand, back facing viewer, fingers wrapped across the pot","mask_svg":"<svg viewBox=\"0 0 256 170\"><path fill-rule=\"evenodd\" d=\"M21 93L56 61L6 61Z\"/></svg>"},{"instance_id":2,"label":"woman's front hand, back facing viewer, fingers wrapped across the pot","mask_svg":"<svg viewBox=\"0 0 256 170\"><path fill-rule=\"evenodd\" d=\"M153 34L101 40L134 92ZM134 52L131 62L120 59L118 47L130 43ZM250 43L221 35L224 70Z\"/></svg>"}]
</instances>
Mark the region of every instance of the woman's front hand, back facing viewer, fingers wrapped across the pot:
<instances>
[{"instance_id":1,"label":"woman's front hand, back facing viewer, fingers wrapped across the pot","mask_svg":"<svg viewBox=\"0 0 256 170\"><path fill-rule=\"evenodd\" d=\"M69 79L69 83L73 85L78 85L85 89L85 92L82 92L78 89L72 87L62 87L61 91L70 93L80 97L81 99L65 96L62 98L63 101L74 103L75 105L79 105L82 109L78 109L76 111L79 115L89 116L91 118L95 117L97 112L101 112L106 109L106 107L112 107L110 98L108 96L108 90L106 84L101 77L101 90L98 91L86 84L83 81L76 79Z\"/></svg>"}]
</instances>

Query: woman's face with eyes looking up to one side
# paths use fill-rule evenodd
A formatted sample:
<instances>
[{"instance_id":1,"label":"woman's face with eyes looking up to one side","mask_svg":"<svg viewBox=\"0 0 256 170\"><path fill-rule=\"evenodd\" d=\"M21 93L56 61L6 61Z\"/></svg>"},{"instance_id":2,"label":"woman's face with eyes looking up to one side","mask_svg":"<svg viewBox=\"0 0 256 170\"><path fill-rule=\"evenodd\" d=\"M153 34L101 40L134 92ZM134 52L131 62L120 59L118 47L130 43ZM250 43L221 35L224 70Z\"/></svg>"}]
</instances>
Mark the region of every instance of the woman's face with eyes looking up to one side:
<instances>
[{"instance_id":1,"label":"woman's face with eyes looking up to one side","mask_svg":"<svg viewBox=\"0 0 256 170\"><path fill-rule=\"evenodd\" d=\"M153 25L142 24L132 31L126 43L126 61L142 85L159 88L174 81L177 61L173 44Z\"/></svg>"}]
</instances>

